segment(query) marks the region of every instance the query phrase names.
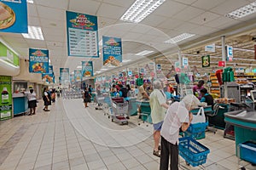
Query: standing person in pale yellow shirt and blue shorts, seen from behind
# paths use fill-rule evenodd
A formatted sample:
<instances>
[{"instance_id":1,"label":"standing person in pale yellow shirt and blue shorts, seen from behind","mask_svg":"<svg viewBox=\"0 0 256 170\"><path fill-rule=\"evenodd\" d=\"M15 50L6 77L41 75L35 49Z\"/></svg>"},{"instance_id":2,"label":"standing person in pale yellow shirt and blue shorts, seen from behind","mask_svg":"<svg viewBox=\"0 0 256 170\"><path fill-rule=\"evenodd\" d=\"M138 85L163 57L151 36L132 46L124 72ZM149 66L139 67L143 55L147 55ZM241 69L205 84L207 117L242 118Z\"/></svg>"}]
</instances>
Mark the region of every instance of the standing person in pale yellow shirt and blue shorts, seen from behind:
<instances>
[{"instance_id":1,"label":"standing person in pale yellow shirt and blue shorts, seen from behind","mask_svg":"<svg viewBox=\"0 0 256 170\"><path fill-rule=\"evenodd\" d=\"M150 94L149 104L151 108L151 118L154 127L154 150L153 155L160 157L160 130L166 116L166 94L162 91L162 83L160 81L153 82L154 91Z\"/></svg>"}]
</instances>

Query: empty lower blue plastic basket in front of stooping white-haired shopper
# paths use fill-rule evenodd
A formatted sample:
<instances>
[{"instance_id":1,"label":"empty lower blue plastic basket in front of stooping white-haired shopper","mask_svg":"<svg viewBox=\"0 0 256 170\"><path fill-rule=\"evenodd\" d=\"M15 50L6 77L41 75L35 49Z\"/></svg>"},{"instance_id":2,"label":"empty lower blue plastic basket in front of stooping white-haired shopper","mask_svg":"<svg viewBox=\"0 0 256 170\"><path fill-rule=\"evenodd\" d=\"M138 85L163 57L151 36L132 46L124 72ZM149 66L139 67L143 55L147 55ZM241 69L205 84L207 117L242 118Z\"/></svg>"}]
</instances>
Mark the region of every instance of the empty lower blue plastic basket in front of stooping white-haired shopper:
<instances>
[{"instance_id":1,"label":"empty lower blue plastic basket in front of stooping white-haired shopper","mask_svg":"<svg viewBox=\"0 0 256 170\"><path fill-rule=\"evenodd\" d=\"M207 162L207 155L210 150L203 144L197 142L195 139L184 137L179 139L178 144L179 155L183 157L186 164L192 167L201 167L204 169L202 164ZM179 167L188 169L179 163Z\"/></svg>"}]
</instances>

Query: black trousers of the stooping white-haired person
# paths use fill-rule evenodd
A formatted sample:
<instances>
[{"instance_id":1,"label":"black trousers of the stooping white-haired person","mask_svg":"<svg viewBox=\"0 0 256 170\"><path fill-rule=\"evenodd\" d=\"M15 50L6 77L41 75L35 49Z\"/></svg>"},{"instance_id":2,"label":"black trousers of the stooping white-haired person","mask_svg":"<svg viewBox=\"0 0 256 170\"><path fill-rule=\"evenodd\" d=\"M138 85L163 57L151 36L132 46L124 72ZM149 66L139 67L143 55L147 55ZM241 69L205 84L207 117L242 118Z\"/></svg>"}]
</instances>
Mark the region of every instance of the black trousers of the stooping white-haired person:
<instances>
[{"instance_id":1,"label":"black trousers of the stooping white-haired person","mask_svg":"<svg viewBox=\"0 0 256 170\"><path fill-rule=\"evenodd\" d=\"M161 137L160 170L168 170L171 156L171 170L178 170L178 146Z\"/></svg>"}]
</instances>

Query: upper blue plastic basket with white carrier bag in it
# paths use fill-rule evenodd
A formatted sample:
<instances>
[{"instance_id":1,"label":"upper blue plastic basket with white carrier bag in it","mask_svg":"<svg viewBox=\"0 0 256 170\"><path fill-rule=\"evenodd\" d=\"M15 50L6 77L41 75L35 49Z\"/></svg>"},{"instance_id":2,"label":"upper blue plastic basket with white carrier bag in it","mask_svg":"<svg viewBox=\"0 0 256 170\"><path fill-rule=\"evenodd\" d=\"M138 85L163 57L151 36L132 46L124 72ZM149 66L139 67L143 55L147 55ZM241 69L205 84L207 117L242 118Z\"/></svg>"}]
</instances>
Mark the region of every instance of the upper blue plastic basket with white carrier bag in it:
<instances>
[{"instance_id":1,"label":"upper blue plastic basket with white carrier bag in it","mask_svg":"<svg viewBox=\"0 0 256 170\"><path fill-rule=\"evenodd\" d=\"M207 126L208 122L190 124L188 130L184 132L184 136L192 139L205 139Z\"/></svg>"}]
</instances>

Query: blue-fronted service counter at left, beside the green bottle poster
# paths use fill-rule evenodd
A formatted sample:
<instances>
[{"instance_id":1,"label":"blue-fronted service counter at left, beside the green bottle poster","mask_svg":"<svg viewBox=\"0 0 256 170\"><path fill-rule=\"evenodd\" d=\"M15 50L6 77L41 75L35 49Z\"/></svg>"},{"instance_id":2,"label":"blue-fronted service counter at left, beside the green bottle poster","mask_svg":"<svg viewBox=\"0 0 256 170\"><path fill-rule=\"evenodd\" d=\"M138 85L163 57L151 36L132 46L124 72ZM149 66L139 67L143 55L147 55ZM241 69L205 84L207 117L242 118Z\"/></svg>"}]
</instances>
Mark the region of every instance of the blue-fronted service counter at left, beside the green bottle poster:
<instances>
[{"instance_id":1,"label":"blue-fronted service counter at left, beside the green bottle poster","mask_svg":"<svg viewBox=\"0 0 256 170\"><path fill-rule=\"evenodd\" d=\"M24 94L13 94L14 116L28 111L27 97Z\"/></svg>"}]
</instances>

